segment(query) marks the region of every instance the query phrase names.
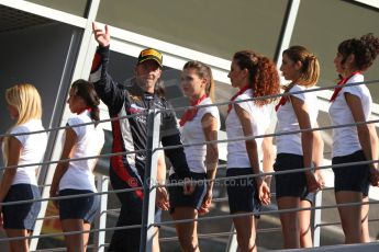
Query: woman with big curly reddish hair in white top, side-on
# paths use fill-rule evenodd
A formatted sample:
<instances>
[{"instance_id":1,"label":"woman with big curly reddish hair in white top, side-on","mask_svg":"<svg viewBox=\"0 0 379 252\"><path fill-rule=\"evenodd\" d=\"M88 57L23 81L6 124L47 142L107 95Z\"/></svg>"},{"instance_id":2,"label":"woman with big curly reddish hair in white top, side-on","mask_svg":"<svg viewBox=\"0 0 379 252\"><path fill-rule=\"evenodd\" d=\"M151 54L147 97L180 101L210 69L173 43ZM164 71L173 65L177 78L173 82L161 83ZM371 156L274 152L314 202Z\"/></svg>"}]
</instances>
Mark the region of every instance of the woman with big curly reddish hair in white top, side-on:
<instances>
[{"instance_id":1,"label":"woman with big curly reddish hair in white top, side-on","mask_svg":"<svg viewBox=\"0 0 379 252\"><path fill-rule=\"evenodd\" d=\"M277 94L279 77L275 64L265 56L252 50L234 54L228 73L232 87L239 91L231 99L236 102L228 107L226 134L230 140L248 137L246 140L227 142L226 176L259 174L258 148L270 123L269 103L274 99L257 99L238 102L252 98ZM265 158L264 158L265 159ZM226 181L231 214L253 213L259 216L260 204L269 204L269 187L261 176L231 179ZM235 217L233 222L237 232L241 251L256 251L255 217Z\"/></svg>"}]
</instances>

